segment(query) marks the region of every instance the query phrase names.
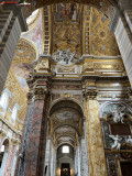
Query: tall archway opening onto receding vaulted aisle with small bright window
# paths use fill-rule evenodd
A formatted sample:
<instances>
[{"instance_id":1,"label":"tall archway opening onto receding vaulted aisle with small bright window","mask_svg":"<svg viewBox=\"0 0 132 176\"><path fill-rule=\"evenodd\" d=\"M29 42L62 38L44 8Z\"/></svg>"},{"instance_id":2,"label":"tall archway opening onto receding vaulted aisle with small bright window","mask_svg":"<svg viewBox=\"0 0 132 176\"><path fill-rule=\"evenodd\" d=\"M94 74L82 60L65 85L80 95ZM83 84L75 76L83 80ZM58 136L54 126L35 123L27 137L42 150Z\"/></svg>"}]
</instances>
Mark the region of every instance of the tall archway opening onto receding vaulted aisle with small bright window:
<instances>
[{"instance_id":1,"label":"tall archway opening onto receding vaulted aisle with small bright window","mask_svg":"<svg viewBox=\"0 0 132 176\"><path fill-rule=\"evenodd\" d=\"M61 100L51 107L45 176L74 176L77 173L80 176L81 169L88 173L85 167L87 154L84 160L84 152L88 150L82 118L81 107L73 100Z\"/></svg>"}]
</instances>

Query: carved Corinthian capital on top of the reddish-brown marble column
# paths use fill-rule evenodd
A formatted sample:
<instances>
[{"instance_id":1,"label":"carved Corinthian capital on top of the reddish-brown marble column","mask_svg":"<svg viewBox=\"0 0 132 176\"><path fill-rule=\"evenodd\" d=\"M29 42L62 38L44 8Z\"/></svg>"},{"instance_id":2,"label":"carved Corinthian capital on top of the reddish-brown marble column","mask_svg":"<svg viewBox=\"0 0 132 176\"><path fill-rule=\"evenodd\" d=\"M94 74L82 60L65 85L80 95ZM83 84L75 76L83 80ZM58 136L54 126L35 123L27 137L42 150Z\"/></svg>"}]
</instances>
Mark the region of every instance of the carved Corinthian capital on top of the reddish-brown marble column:
<instances>
[{"instance_id":1,"label":"carved Corinthian capital on top of the reddish-brown marble column","mask_svg":"<svg viewBox=\"0 0 132 176\"><path fill-rule=\"evenodd\" d=\"M45 96L48 94L47 87L46 86L37 86L34 88L33 94L36 99L44 100Z\"/></svg>"}]
</instances>

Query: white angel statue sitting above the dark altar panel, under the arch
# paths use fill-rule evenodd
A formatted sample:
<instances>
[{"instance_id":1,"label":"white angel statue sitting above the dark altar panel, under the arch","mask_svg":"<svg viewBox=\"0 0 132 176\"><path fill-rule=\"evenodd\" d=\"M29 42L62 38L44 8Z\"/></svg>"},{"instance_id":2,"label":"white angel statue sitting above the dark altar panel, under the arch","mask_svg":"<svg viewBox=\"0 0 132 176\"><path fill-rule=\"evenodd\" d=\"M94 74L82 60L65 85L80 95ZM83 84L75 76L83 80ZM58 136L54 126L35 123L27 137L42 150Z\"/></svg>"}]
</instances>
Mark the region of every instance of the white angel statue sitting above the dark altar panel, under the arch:
<instances>
[{"instance_id":1,"label":"white angel statue sitting above the dark altar panel, under the arch","mask_svg":"<svg viewBox=\"0 0 132 176\"><path fill-rule=\"evenodd\" d=\"M124 113L122 112L125 109L125 107L121 107L121 108L114 108L113 110L111 110L112 116L113 116L113 121L116 123L121 122L123 123L124 120Z\"/></svg>"}]
</instances>

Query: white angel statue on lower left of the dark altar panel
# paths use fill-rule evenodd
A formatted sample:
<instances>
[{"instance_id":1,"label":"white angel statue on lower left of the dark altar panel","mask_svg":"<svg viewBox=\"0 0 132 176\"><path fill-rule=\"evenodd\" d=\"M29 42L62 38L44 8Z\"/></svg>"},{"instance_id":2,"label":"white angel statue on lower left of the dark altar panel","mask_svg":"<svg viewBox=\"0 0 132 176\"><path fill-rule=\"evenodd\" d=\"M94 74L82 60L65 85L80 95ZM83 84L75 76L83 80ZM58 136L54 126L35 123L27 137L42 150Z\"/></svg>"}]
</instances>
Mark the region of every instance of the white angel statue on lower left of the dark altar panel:
<instances>
[{"instance_id":1,"label":"white angel statue on lower left of the dark altar panel","mask_svg":"<svg viewBox=\"0 0 132 176\"><path fill-rule=\"evenodd\" d=\"M114 143L111 146L111 150L117 148L120 150L121 147L121 143L120 141L122 140L122 138L120 138L119 135L109 135L112 140L114 140Z\"/></svg>"}]
</instances>

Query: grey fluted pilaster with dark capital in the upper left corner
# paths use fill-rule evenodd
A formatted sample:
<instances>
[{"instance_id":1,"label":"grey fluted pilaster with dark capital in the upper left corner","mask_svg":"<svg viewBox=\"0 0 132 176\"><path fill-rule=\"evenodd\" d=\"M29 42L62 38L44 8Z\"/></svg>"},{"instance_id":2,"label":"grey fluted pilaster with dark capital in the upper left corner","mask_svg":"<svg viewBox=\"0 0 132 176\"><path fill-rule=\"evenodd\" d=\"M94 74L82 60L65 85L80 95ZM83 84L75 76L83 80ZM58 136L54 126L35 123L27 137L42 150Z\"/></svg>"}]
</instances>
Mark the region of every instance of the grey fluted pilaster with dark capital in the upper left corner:
<instances>
[{"instance_id":1,"label":"grey fluted pilaster with dark capital in the upper left corner","mask_svg":"<svg viewBox=\"0 0 132 176\"><path fill-rule=\"evenodd\" d=\"M21 7L0 4L0 95L3 89L21 32L28 30Z\"/></svg>"}]
</instances>

